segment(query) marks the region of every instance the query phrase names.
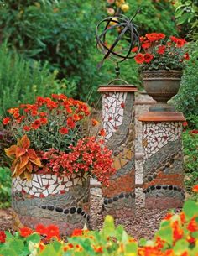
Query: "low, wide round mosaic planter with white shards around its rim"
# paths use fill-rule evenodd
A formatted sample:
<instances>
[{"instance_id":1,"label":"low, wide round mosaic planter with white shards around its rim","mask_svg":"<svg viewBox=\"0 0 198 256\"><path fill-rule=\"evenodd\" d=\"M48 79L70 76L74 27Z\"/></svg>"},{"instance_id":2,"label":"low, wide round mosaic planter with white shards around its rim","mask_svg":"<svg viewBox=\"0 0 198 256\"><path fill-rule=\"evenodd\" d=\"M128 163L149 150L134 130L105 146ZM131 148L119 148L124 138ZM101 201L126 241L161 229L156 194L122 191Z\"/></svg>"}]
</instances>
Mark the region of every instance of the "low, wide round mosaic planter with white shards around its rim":
<instances>
[{"instance_id":1,"label":"low, wide round mosaic planter with white shards around its rim","mask_svg":"<svg viewBox=\"0 0 198 256\"><path fill-rule=\"evenodd\" d=\"M12 180L15 226L55 224L64 235L90 222L90 180L86 175L57 177L34 174L32 180Z\"/></svg>"}]
</instances>

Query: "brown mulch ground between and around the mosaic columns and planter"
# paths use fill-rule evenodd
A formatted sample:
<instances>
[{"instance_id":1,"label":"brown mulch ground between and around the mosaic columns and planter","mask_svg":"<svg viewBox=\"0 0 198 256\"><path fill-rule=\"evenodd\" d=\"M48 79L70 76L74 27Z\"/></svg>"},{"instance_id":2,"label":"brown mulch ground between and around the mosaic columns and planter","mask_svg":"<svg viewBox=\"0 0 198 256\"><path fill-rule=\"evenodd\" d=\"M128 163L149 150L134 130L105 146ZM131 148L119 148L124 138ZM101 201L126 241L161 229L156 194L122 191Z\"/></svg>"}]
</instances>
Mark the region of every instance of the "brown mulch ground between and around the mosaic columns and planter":
<instances>
[{"instance_id":1,"label":"brown mulch ground between and around the mosaic columns and planter","mask_svg":"<svg viewBox=\"0 0 198 256\"><path fill-rule=\"evenodd\" d=\"M91 227L92 229L101 229L103 217L102 194L100 188L91 188ZM116 225L122 224L125 230L139 240L140 238L154 238L154 232L159 229L159 223L164 218L167 210L148 210L143 207L143 191L136 190L136 217L116 220ZM175 212L180 212L176 209ZM13 232L11 209L0 210L0 230L9 230Z\"/></svg>"}]
</instances>

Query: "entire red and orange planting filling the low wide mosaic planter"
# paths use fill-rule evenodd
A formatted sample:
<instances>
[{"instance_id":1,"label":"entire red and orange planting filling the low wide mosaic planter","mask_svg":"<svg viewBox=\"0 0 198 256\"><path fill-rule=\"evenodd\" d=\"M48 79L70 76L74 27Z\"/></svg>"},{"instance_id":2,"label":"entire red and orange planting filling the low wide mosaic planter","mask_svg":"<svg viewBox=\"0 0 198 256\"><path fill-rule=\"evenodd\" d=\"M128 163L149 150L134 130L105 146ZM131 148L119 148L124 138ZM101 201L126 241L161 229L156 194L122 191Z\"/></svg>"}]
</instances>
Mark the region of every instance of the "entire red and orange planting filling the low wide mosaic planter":
<instances>
[{"instance_id":1,"label":"entire red and orange planting filling the low wide mosaic planter","mask_svg":"<svg viewBox=\"0 0 198 256\"><path fill-rule=\"evenodd\" d=\"M90 114L86 103L53 94L8 109L8 113L3 125L12 130L17 142L5 149L13 160L13 176L30 179L39 170L65 176L83 171L107 184L114 172L112 152L102 139L83 138L83 123Z\"/></svg>"}]
</instances>

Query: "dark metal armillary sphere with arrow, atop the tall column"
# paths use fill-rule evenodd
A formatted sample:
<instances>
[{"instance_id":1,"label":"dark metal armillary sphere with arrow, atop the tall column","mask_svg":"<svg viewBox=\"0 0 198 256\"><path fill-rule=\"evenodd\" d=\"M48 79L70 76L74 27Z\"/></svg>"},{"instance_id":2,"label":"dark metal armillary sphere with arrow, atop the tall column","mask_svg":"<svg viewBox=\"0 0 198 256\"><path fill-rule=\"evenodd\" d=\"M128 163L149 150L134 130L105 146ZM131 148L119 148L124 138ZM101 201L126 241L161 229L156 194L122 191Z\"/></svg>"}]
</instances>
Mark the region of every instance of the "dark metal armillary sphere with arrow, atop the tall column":
<instances>
[{"instance_id":1,"label":"dark metal armillary sphere with arrow, atop the tall column","mask_svg":"<svg viewBox=\"0 0 198 256\"><path fill-rule=\"evenodd\" d=\"M140 49L137 25L133 24L133 18L129 19L125 15L119 14L115 17L102 19L96 26L97 49L104 55L98 68L102 67L104 60L107 58L115 61L118 65L119 62L132 59L137 54L132 52L134 47ZM116 36L113 32L116 32ZM111 39L111 45L107 44L107 36Z\"/></svg>"}]
</instances>

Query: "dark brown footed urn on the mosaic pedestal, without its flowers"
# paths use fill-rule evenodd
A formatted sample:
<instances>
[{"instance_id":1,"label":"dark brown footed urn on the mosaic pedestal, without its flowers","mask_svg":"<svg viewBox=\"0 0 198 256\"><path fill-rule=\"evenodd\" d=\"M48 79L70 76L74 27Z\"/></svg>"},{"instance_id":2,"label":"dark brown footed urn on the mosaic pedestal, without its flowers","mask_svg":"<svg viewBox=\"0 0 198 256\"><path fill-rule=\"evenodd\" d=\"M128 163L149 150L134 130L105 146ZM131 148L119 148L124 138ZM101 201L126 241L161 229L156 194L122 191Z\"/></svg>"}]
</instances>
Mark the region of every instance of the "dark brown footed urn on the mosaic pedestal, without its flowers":
<instances>
[{"instance_id":1,"label":"dark brown footed urn on the mosaic pedestal, without its flowers","mask_svg":"<svg viewBox=\"0 0 198 256\"><path fill-rule=\"evenodd\" d=\"M149 107L150 111L175 111L167 102L179 91L181 76L181 71L143 71L144 89L157 101L154 106Z\"/></svg>"}]
</instances>

